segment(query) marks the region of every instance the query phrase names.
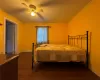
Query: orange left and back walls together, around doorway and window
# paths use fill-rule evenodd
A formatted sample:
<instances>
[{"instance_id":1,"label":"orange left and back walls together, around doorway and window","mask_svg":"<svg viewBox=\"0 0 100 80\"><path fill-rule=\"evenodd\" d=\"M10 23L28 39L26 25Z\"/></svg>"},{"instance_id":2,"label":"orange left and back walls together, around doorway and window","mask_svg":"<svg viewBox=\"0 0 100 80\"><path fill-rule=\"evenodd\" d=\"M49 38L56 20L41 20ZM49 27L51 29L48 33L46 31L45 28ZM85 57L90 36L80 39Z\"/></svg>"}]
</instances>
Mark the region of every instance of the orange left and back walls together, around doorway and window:
<instances>
[{"instance_id":1,"label":"orange left and back walls together, around doorway and window","mask_svg":"<svg viewBox=\"0 0 100 80\"><path fill-rule=\"evenodd\" d=\"M67 43L67 24L65 23L22 23L15 17L0 10L0 53L5 51L5 23L7 18L15 22L17 26L17 52L26 52L32 50L32 43L36 43L36 28L35 26L51 26L49 29L49 42L55 44Z\"/></svg>"}]
</instances>

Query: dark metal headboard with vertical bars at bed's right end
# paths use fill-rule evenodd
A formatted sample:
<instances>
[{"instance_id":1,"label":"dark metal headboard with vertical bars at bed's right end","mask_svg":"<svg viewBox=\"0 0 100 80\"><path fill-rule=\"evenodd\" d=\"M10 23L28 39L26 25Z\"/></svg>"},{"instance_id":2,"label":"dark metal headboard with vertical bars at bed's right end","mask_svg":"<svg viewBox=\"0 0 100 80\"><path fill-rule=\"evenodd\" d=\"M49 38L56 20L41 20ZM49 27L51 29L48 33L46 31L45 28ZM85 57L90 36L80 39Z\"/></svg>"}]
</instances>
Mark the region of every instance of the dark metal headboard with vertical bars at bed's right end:
<instances>
[{"instance_id":1,"label":"dark metal headboard with vertical bars at bed's right end","mask_svg":"<svg viewBox=\"0 0 100 80\"><path fill-rule=\"evenodd\" d=\"M86 47L86 65L88 67L88 62L89 62L89 55L88 55L88 39L89 39L89 31L86 31L85 34L83 35L76 35L76 36L70 36L68 35L68 45L72 45L72 46L78 46L80 48L82 48L83 41L85 40L85 47ZM80 44L79 44L80 41ZM80 46L79 46L80 45Z\"/></svg>"}]
</instances>

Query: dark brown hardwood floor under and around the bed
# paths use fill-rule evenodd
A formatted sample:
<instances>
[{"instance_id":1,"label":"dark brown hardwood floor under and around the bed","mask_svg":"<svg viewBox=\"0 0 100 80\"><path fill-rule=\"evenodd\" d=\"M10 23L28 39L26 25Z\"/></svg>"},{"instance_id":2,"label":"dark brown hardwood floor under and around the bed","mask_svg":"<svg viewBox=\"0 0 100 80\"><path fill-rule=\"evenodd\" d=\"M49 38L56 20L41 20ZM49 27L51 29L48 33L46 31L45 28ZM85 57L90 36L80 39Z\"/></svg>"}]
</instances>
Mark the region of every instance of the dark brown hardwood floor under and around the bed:
<instances>
[{"instance_id":1,"label":"dark brown hardwood floor under and around the bed","mask_svg":"<svg viewBox=\"0 0 100 80\"><path fill-rule=\"evenodd\" d=\"M31 69L31 53L19 57L19 80L100 80L79 63L40 63L36 71Z\"/></svg>"}]
</instances>

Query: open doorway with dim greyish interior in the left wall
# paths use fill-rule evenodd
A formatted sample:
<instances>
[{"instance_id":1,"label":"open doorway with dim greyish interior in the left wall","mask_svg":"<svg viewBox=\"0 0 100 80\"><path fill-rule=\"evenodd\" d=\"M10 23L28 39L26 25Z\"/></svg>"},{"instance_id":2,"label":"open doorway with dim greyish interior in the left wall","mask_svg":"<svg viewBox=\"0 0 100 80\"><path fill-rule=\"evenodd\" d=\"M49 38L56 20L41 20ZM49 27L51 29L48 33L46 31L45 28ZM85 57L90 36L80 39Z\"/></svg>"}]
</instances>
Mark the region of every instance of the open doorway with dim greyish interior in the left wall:
<instances>
[{"instance_id":1,"label":"open doorway with dim greyish interior in the left wall","mask_svg":"<svg viewBox=\"0 0 100 80\"><path fill-rule=\"evenodd\" d=\"M9 55L16 52L16 24L9 20L5 22L5 53Z\"/></svg>"}]
</instances>

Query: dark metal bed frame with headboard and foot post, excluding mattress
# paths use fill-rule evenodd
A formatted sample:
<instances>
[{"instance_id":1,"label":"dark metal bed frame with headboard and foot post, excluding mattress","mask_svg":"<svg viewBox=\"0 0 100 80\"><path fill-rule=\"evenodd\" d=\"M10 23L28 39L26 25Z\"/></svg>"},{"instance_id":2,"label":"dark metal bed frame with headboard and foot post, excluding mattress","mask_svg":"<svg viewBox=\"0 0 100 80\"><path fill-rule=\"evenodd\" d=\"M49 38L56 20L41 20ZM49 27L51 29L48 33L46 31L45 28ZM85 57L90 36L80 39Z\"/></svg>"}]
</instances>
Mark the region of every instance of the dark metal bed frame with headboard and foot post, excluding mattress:
<instances>
[{"instance_id":1,"label":"dark metal bed frame with headboard and foot post, excluding mattress","mask_svg":"<svg viewBox=\"0 0 100 80\"><path fill-rule=\"evenodd\" d=\"M85 65L87 68L88 68L88 63L89 63L88 39L89 39L89 31L86 31L86 34L84 34L84 35L76 35L76 36L68 35L68 45L76 46L75 41L77 41L77 44L78 44L78 41L80 40L80 42L81 42L80 46L82 48L82 42L83 42L83 40L86 40L86 63L85 63ZM34 43L32 43L32 69L34 67L34 47L35 47L35 45L34 45Z\"/></svg>"}]
</instances>

